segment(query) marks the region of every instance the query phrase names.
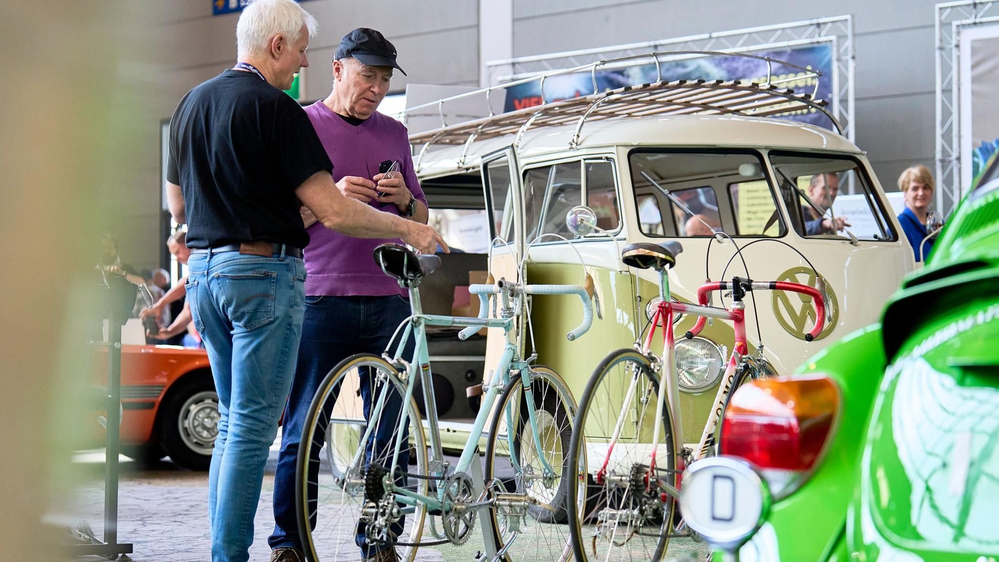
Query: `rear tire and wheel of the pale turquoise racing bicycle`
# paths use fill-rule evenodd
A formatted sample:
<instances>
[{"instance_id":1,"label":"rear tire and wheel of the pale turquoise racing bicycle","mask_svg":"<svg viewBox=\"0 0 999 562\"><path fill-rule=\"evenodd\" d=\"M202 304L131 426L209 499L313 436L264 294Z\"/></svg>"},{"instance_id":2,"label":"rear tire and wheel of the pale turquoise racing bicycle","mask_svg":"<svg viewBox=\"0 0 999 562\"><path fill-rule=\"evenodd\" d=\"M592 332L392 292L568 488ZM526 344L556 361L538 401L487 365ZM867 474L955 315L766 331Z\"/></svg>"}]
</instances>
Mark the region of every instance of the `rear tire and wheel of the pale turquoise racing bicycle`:
<instances>
[{"instance_id":1,"label":"rear tire and wheel of the pale turquoise racing bicycle","mask_svg":"<svg viewBox=\"0 0 999 562\"><path fill-rule=\"evenodd\" d=\"M312 404L310 404L306 423L302 430L296 477L296 497L298 499L296 510L298 512L299 535L302 539L306 558L311 562L320 562L321 560L324 562L329 560L356 560L360 555L360 548L355 545L354 539L359 529L357 521L360 509L365 503L366 486L362 486L359 492L356 489L348 491L347 486L341 486L340 484L336 486L324 486L323 484L336 483L338 471L340 476L345 474L344 469L350 464L350 462L344 461L344 459L348 458L348 455L353 457L360 452L360 458L363 462L367 458L365 451L358 450L358 448L364 447L360 443L360 440L363 432L362 428L368 423L364 417L361 399L362 382L360 369L362 368L377 369L379 375L384 375L381 377L381 380L393 385L395 392L399 393L400 400L402 400L402 396L406 395L406 384L396 375L397 371L395 367L377 355L365 353L353 355L341 361L340 364L327 374L317 389L316 396L313 398ZM373 377L369 374L368 380L377 381L379 377ZM355 381L357 381L357 384L354 384ZM374 384L372 392L378 392L380 386L377 383L372 384ZM345 390L348 390L346 394ZM374 397L377 397L378 394L373 393L371 396L373 396L372 400L374 401L377 399ZM410 445L410 451L411 454L415 454L416 456L416 466L402 467L402 471L422 475L423 478L409 478L408 486L411 489L415 488L420 494L427 495L430 483L430 480L426 478L428 474L427 442L423 423L420 418L420 410L417 408L415 397L411 397L409 410L409 439L413 442ZM321 427L324 423L324 417L326 418L325 427ZM380 418L378 423L382 423L382 421L384 420ZM334 423L337 424L337 428L334 431L327 431ZM396 431L398 432L398 427ZM397 433L393 433L393 437L395 435ZM346 441L346 444L339 445L339 442L334 443L334 437ZM352 438L353 441L351 441ZM323 462L320 458L324 446L326 446L327 456L326 469L330 471L330 474L325 476L322 474ZM338 458L337 455L342 456ZM388 452L383 456L388 457ZM391 462L392 459L388 458L388 464L391 464ZM338 463L342 464L339 468L337 467ZM366 462L365 465L367 467L368 463ZM366 468L365 470L367 471L368 469ZM310 478L312 471L316 472L315 482L312 482ZM317 499L315 501L309 498L310 484L315 484L317 488ZM322 494L320 494L324 488L329 490L330 493L330 496L327 498L322 497ZM324 499L326 502L324 502ZM342 503L329 504L337 506L329 508L325 504L330 499L337 499ZM313 505L316 506L315 510L312 507ZM357 513L350 513L352 507ZM325 521L320 521L319 512L321 509L323 509L324 513L327 509L332 510L333 514L331 514L330 519L334 522L333 524L338 525L332 530L332 542L337 545L332 555L324 548L328 539L331 538L331 530L327 529L326 525L323 525L321 528L321 523L325 523ZM423 534L426 515L426 505L418 503L414 512L406 516L407 527L397 537L398 542L419 543ZM311 524L314 516L315 524ZM343 545L347 546L343 547ZM401 546L397 548L397 554L399 560L412 562L416 558L417 547Z\"/></svg>"}]
</instances>

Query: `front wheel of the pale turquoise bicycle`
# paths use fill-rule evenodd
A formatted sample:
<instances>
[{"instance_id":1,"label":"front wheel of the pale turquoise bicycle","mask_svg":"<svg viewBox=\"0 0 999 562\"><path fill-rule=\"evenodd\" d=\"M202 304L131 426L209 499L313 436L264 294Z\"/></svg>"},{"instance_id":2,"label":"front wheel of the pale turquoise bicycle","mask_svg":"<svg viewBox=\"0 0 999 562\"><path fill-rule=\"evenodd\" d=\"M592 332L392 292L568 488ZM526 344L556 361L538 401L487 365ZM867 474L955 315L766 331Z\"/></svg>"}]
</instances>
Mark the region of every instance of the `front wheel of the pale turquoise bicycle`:
<instances>
[{"instance_id":1,"label":"front wheel of the pale turquoise bicycle","mask_svg":"<svg viewBox=\"0 0 999 562\"><path fill-rule=\"evenodd\" d=\"M493 534L506 562L561 562L572 557L565 523L572 505L568 488L577 471L565 461L575 403L551 369L532 366L528 378L529 399L522 378L514 377L490 427L486 482L494 482L499 494L490 508Z\"/></svg>"}]
</instances>

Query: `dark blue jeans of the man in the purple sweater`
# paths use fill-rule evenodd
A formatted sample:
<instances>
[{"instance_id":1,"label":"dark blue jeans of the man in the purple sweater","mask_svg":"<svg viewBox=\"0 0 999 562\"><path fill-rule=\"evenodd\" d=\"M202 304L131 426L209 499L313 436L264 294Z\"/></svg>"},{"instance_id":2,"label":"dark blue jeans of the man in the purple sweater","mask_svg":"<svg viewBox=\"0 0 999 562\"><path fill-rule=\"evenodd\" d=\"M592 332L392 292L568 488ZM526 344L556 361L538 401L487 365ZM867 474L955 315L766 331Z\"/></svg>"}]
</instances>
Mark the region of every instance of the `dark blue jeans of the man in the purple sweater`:
<instances>
[{"instance_id":1,"label":"dark blue jeans of the man in the purple sweater","mask_svg":"<svg viewBox=\"0 0 999 562\"><path fill-rule=\"evenodd\" d=\"M274 534L268 540L271 548L294 547L302 548L299 535L299 524L296 512L296 462L299 454L299 442L302 430L313 397L326 375L338 363L357 353L374 353L381 355L389 344L389 339L396 331L400 322L410 315L410 304L398 295L367 297L306 297L305 323L302 329L302 345L299 347L298 367L295 370L295 380L288 398L285 411L284 427L281 433L281 452L278 455L278 467L274 475ZM397 340L398 341L398 340ZM409 358L413 350L413 337L407 346L405 357ZM372 408L374 381L370 380L367 370L361 373L361 397L364 401L365 418L369 417ZM334 395L339 389L334 390ZM374 395L378 397L377 394ZM331 402L332 405L332 402ZM372 451L368 443L368 459L374 455L383 456L395 445L395 435L398 420L402 414L402 397L399 393L391 393L386 400L381 419L375 435L377 443L383 446L381 451ZM387 420L394 420L395 423ZM408 436L404 436L404 439ZM325 435L316 434L316 440L322 442ZM309 463L309 482L317 482L319 474L320 449L312 451L312 461ZM410 450L400 451L399 466L408 468ZM388 468L388 467L385 467ZM405 485L405 478L399 481ZM315 485L309 487L310 504L316 502L318 490ZM310 510L313 511L313 510ZM316 521L310 521L315 528ZM403 521L393 526L393 531L403 531ZM363 529L358 530L355 538L365 557L373 555L381 548L378 545L366 545Z\"/></svg>"}]
</instances>

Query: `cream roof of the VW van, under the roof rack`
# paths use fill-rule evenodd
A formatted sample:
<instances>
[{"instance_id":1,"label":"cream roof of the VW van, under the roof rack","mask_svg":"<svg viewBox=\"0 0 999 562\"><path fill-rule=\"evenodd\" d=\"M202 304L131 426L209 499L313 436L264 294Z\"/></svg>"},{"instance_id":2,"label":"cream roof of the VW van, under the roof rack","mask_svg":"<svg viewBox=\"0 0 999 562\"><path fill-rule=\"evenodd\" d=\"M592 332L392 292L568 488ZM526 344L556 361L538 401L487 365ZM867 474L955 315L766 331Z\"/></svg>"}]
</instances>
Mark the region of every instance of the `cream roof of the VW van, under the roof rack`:
<instances>
[{"instance_id":1,"label":"cream roof of the VW van, under the roof rack","mask_svg":"<svg viewBox=\"0 0 999 562\"><path fill-rule=\"evenodd\" d=\"M604 119L586 123L576 142L575 124L526 129L517 143L517 156L532 160L554 153L591 152L616 146L669 147L759 147L816 149L853 152L860 150L844 137L821 127L795 121L731 115L660 115ZM514 143L514 134L472 144L431 145L415 156L417 172L424 177L478 169L483 155ZM415 148L421 149L420 145ZM418 150L419 152L419 150Z\"/></svg>"}]
</instances>

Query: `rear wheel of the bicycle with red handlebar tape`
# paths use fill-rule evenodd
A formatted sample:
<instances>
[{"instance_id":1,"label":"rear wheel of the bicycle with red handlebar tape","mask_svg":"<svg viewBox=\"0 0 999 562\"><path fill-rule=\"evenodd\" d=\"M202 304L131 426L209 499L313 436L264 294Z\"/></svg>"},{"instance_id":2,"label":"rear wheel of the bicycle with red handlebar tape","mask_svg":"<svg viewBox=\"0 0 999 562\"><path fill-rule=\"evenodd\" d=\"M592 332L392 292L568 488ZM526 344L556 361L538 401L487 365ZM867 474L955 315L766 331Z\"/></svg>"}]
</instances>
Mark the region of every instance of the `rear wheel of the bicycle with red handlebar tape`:
<instances>
[{"instance_id":1,"label":"rear wheel of the bicycle with red handlebar tape","mask_svg":"<svg viewBox=\"0 0 999 562\"><path fill-rule=\"evenodd\" d=\"M579 562L659 560L665 554L676 502L664 485L676 485L676 444L668 404L655 419L658 389L648 359L630 349L605 357L586 384L567 462L585 467L579 483L593 477L584 493L569 488L576 506L568 510L569 530Z\"/></svg>"}]
</instances>

